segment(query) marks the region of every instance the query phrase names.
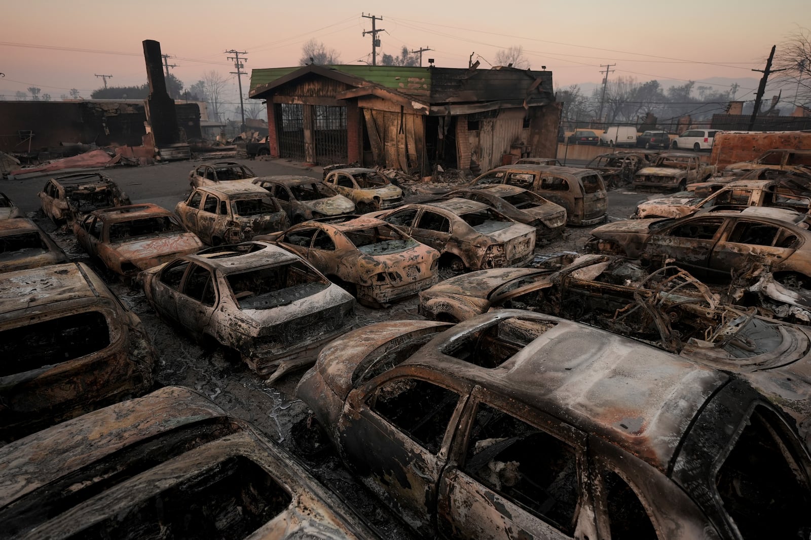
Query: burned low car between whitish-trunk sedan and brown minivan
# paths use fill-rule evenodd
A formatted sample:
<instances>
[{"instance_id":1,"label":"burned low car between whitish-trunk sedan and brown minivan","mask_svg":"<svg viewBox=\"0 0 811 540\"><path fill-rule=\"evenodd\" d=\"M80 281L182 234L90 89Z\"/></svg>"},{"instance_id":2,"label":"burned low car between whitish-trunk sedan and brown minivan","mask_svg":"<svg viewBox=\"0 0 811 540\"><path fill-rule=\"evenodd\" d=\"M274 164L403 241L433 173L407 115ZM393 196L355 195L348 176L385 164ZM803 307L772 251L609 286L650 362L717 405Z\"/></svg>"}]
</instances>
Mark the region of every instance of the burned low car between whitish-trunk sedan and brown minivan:
<instances>
[{"instance_id":1,"label":"burned low car between whitish-trunk sedan and brown minivan","mask_svg":"<svg viewBox=\"0 0 811 540\"><path fill-rule=\"evenodd\" d=\"M492 206L518 223L535 227L536 239L560 236L566 227L566 209L563 206L547 201L529 189L514 185L481 185L457 189L448 193L447 197L466 198Z\"/></svg>"}]
</instances>

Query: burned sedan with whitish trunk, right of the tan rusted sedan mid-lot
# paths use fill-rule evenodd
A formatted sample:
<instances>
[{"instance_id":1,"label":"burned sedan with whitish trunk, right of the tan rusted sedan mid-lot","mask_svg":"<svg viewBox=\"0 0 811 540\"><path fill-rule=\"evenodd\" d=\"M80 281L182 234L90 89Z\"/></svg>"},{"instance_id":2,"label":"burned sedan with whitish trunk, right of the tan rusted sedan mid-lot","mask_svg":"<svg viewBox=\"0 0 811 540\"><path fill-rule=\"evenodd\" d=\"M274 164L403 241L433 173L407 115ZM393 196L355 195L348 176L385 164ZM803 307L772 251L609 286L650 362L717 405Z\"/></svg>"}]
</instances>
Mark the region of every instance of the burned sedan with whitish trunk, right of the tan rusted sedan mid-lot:
<instances>
[{"instance_id":1,"label":"burned sedan with whitish trunk, right of the tan rusted sedan mid-lot","mask_svg":"<svg viewBox=\"0 0 811 540\"><path fill-rule=\"evenodd\" d=\"M525 266L535 249L535 229L481 202L449 198L375 213L442 255L453 271Z\"/></svg>"}]
</instances>

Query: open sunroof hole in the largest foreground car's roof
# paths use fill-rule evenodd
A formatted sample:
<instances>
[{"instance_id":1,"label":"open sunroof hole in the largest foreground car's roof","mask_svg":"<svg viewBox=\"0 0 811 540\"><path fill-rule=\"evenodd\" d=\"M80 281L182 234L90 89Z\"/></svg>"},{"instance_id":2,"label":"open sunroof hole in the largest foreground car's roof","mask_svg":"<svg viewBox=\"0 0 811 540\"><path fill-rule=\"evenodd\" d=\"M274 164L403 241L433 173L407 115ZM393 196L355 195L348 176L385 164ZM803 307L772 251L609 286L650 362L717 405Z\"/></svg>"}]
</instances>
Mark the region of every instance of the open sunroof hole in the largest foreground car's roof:
<instances>
[{"instance_id":1,"label":"open sunroof hole in the largest foreground car's roof","mask_svg":"<svg viewBox=\"0 0 811 540\"><path fill-rule=\"evenodd\" d=\"M556 325L554 321L532 321L517 317L491 321L483 328L477 328L448 342L441 352L480 368L498 368Z\"/></svg>"}]
</instances>

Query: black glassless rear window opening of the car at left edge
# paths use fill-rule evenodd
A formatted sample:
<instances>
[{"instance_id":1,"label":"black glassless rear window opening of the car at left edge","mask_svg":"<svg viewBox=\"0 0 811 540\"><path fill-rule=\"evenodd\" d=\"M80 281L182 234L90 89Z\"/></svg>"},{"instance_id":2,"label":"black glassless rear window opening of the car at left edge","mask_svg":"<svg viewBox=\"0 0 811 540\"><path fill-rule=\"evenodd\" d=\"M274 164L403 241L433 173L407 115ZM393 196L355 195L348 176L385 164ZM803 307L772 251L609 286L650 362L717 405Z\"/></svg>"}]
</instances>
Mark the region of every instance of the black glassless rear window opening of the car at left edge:
<instances>
[{"instance_id":1,"label":"black glassless rear window opening of the car at left edge","mask_svg":"<svg viewBox=\"0 0 811 540\"><path fill-rule=\"evenodd\" d=\"M0 331L0 376L91 355L109 346L106 317L97 311Z\"/></svg>"}]
</instances>

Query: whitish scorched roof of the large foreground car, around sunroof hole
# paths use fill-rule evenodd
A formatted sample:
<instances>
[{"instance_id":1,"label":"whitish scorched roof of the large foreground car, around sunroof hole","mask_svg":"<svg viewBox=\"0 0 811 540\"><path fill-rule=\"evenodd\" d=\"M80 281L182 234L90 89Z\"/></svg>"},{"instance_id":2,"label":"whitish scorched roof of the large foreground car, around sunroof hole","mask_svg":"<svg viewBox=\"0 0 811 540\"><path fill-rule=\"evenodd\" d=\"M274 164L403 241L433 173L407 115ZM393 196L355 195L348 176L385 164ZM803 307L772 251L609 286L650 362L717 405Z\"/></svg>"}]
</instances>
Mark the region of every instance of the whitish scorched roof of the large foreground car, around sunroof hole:
<instances>
[{"instance_id":1,"label":"whitish scorched roof of the large foreground car, around sunroof hole","mask_svg":"<svg viewBox=\"0 0 811 540\"><path fill-rule=\"evenodd\" d=\"M441 347L489 321L519 317L551 327L499 368L481 368L442 354ZM446 330L401 364L426 366L496 390L628 449L667 470L678 442L724 372L589 325L500 309Z\"/></svg>"}]
</instances>

